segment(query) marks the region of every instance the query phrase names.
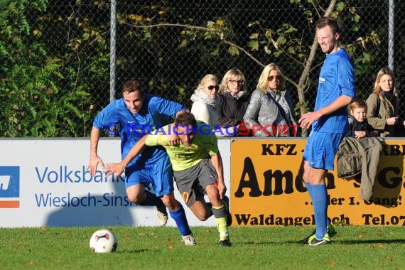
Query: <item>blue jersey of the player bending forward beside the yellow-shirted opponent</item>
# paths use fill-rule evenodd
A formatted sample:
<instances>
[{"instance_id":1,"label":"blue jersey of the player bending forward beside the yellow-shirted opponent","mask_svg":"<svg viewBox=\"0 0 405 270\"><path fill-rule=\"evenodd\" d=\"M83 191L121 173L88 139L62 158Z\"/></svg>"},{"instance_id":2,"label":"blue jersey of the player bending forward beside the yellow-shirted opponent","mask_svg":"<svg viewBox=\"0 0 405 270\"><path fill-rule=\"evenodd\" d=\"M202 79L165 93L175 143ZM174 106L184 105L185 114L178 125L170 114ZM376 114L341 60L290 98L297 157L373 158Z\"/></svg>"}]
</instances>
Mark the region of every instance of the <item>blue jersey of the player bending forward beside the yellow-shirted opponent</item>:
<instances>
[{"instance_id":1,"label":"blue jersey of the player bending forward beside the yellow-shirted opponent","mask_svg":"<svg viewBox=\"0 0 405 270\"><path fill-rule=\"evenodd\" d=\"M124 99L121 98L102 109L95 117L93 126L97 129L109 129L119 123L121 125L121 157L125 158L132 146L145 134L148 134L152 129L170 124L170 117L175 117L175 114L185 109L187 108L177 102L153 95L145 95L141 110L137 114L132 114L126 107ZM128 166L136 163L143 168L145 163L154 163L162 157L167 158L167 153L163 147L146 147Z\"/></svg>"}]
</instances>

